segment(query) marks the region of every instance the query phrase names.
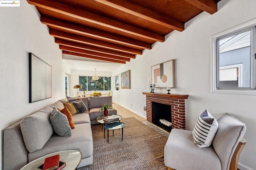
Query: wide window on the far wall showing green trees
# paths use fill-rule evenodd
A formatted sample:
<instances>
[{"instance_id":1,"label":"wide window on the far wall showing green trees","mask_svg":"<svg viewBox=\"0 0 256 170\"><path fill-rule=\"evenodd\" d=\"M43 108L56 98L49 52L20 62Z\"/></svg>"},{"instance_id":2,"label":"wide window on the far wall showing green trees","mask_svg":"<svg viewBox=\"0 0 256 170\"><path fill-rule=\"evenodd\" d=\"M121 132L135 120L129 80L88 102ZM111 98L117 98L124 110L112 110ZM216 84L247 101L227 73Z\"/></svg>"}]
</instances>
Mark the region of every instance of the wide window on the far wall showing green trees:
<instances>
[{"instance_id":1,"label":"wide window on the far wall showing green trees","mask_svg":"<svg viewBox=\"0 0 256 170\"><path fill-rule=\"evenodd\" d=\"M111 77L99 77L94 81L92 76L79 76L79 84L82 86L80 91L111 90Z\"/></svg>"}]
</instances>

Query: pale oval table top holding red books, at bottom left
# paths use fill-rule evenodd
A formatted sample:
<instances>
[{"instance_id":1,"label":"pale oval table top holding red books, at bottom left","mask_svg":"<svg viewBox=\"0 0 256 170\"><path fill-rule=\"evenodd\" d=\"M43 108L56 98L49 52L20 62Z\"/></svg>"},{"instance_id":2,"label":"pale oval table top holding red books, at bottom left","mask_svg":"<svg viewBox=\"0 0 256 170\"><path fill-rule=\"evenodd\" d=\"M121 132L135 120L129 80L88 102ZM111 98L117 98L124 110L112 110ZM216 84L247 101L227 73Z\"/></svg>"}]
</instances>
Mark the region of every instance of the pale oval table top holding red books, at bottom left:
<instances>
[{"instance_id":1,"label":"pale oval table top holding red books, at bottom left","mask_svg":"<svg viewBox=\"0 0 256 170\"><path fill-rule=\"evenodd\" d=\"M82 153L79 150L62 150L37 158L26 164L20 170L37 170L40 165L44 164L45 158L56 154L60 154L60 161L66 163L66 166L62 170L76 170L82 159Z\"/></svg>"}]
</instances>

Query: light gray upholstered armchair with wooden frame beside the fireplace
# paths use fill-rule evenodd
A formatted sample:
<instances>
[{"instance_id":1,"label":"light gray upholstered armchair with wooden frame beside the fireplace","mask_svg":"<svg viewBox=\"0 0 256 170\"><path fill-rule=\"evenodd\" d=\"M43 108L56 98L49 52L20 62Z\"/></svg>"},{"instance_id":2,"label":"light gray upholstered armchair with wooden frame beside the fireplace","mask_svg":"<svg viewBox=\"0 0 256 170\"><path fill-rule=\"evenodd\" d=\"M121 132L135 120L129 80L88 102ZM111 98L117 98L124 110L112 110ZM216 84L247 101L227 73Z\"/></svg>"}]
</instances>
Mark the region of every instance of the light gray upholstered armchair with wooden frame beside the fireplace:
<instances>
[{"instance_id":1,"label":"light gray upholstered armchair with wooden frame beside the fireplace","mask_svg":"<svg viewBox=\"0 0 256 170\"><path fill-rule=\"evenodd\" d=\"M246 141L244 123L225 113L218 119L212 145L198 148L192 131L172 129L164 148L164 163L172 170L237 170Z\"/></svg>"}]
</instances>

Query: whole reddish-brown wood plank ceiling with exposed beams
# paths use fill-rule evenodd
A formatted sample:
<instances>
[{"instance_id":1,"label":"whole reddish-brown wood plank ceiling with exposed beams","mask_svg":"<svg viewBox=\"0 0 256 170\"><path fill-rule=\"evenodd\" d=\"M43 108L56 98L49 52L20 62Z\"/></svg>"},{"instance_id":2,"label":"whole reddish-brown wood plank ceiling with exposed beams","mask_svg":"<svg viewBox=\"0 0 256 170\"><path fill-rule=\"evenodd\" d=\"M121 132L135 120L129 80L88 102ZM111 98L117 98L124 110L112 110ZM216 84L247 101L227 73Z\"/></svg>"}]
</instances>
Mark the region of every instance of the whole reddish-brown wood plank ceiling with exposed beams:
<instances>
[{"instance_id":1,"label":"whole reddish-brown wood plank ceiling with exposed beams","mask_svg":"<svg viewBox=\"0 0 256 170\"><path fill-rule=\"evenodd\" d=\"M27 0L63 54L126 63L220 0Z\"/></svg>"}]
</instances>

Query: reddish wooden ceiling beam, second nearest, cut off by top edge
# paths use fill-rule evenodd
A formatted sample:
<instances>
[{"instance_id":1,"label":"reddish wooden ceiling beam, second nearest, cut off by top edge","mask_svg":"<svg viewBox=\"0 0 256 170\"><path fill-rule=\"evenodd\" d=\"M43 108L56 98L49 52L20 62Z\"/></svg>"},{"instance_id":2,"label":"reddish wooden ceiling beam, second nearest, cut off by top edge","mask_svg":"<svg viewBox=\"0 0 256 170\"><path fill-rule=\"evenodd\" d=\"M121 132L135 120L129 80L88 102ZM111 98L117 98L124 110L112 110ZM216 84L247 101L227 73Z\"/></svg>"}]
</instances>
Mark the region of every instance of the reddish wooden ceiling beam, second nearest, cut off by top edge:
<instances>
[{"instance_id":1,"label":"reddish wooden ceiling beam, second nearest, cut off by top edge","mask_svg":"<svg viewBox=\"0 0 256 170\"><path fill-rule=\"evenodd\" d=\"M171 28L173 30L184 31L184 23L176 21L172 18L163 16L152 10L148 10L142 6L133 4L128 0L95 0L112 8L116 8L123 12L127 12L134 16L138 16L150 22Z\"/></svg>"}]
</instances>

